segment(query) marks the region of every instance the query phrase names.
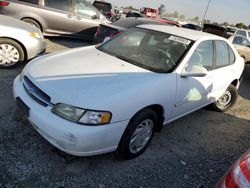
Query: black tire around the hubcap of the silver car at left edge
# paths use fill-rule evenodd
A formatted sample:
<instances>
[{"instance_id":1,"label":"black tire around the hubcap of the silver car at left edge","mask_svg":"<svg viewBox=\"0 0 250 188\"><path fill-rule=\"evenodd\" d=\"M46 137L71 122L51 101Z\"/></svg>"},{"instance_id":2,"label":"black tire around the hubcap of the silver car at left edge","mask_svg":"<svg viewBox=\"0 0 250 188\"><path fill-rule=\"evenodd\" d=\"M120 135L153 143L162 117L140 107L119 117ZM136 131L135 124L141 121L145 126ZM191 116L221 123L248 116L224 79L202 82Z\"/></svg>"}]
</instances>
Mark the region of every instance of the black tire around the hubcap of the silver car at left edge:
<instances>
[{"instance_id":1,"label":"black tire around the hubcap of the silver car at left edge","mask_svg":"<svg viewBox=\"0 0 250 188\"><path fill-rule=\"evenodd\" d=\"M18 53L18 59L16 59L16 61L11 61L10 63L5 63L4 60L1 59L0 57L0 68L13 68L19 62L22 62L25 60L24 49L16 41L11 40L11 39L1 38L0 39L0 51L1 50L3 51L3 48L1 47L1 45L8 45L12 47L12 50L15 49L17 51L15 54Z\"/></svg>"}]
</instances>

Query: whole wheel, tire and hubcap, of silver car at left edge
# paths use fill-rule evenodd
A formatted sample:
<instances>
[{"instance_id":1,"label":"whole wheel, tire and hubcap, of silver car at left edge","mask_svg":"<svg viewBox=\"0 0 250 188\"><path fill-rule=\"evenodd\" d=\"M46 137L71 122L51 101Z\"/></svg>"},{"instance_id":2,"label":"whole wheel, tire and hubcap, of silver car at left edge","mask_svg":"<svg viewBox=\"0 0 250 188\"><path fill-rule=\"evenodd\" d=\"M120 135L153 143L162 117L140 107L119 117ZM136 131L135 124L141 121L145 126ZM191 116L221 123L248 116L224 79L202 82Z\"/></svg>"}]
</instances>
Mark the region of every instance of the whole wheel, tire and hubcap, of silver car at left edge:
<instances>
[{"instance_id":1,"label":"whole wheel, tire and hubcap, of silver car at left edge","mask_svg":"<svg viewBox=\"0 0 250 188\"><path fill-rule=\"evenodd\" d=\"M24 61L23 48L14 40L0 39L0 68L11 68Z\"/></svg>"}]
</instances>

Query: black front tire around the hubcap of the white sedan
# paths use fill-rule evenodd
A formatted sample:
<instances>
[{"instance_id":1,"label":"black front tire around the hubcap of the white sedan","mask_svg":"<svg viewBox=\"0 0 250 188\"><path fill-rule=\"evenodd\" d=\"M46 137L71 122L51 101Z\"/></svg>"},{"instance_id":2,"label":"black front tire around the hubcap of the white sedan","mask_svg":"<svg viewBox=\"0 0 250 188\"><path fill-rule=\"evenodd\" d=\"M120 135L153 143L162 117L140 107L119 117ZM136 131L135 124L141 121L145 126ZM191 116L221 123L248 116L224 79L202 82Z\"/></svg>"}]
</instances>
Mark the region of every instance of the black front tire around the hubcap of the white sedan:
<instances>
[{"instance_id":1,"label":"black front tire around the hubcap of the white sedan","mask_svg":"<svg viewBox=\"0 0 250 188\"><path fill-rule=\"evenodd\" d=\"M132 141L132 136L134 136L135 130L140 129L140 126L143 125L144 122L152 122L153 126L152 126L152 132L151 134L149 133L147 141L145 141L145 145L138 151L138 152L132 152L131 150L131 141ZM133 159L135 157L138 157L139 155L141 155L146 148L148 147L151 139L154 136L155 133L155 129L156 129L156 125L158 123L158 118L157 115L155 114L155 112L151 109L143 109L140 112L138 112L129 122L126 130L123 133L123 136L120 140L120 143L118 145L118 148L116 150L116 157L118 159ZM149 131L149 129L148 129ZM139 135L139 134L138 134ZM135 138L136 136L134 136L133 138ZM140 138L139 138L140 139ZM140 140L141 143L142 140Z\"/></svg>"}]
</instances>

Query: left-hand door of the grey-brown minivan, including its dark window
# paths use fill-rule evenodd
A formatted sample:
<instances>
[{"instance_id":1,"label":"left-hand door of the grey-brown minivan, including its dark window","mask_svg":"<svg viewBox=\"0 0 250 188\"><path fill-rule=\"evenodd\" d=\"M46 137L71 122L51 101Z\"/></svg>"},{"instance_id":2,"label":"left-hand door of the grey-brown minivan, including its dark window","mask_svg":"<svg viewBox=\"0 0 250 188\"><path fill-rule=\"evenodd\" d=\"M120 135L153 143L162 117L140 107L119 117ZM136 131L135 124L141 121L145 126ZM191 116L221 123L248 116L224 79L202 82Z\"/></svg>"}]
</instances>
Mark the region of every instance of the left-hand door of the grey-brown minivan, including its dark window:
<instances>
[{"instance_id":1,"label":"left-hand door of the grey-brown minivan, including its dark window","mask_svg":"<svg viewBox=\"0 0 250 188\"><path fill-rule=\"evenodd\" d=\"M74 32L72 0L43 0L40 14L46 22L46 34L71 34Z\"/></svg>"}]
</instances>

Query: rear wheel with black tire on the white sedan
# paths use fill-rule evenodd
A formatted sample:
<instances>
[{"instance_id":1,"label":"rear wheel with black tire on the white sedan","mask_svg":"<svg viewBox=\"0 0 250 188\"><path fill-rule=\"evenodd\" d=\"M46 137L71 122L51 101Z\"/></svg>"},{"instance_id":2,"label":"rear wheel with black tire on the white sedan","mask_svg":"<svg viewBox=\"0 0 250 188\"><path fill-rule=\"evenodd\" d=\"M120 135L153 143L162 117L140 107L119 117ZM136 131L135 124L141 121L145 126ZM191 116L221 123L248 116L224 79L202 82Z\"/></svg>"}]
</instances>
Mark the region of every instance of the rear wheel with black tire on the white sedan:
<instances>
[{"instance_id":1,"label":"rear wheel with black tire on the white sedan","mask_svg":"<svg viewBox=\"0 0 250 188\"><path fill-rule=\"evenodd\" d=\"M230 109L235 105L235 103L237 102L237 98L238 98L238 91L235 88L235 86L231 84L227 88L223 96L221 96L221 98L218 101L212 104L212 107L214 110L218 112L225 112L226 110ZM224 102L225 105L222 105L223 100L226 101Z\"/></svg>"}]
</instances>

